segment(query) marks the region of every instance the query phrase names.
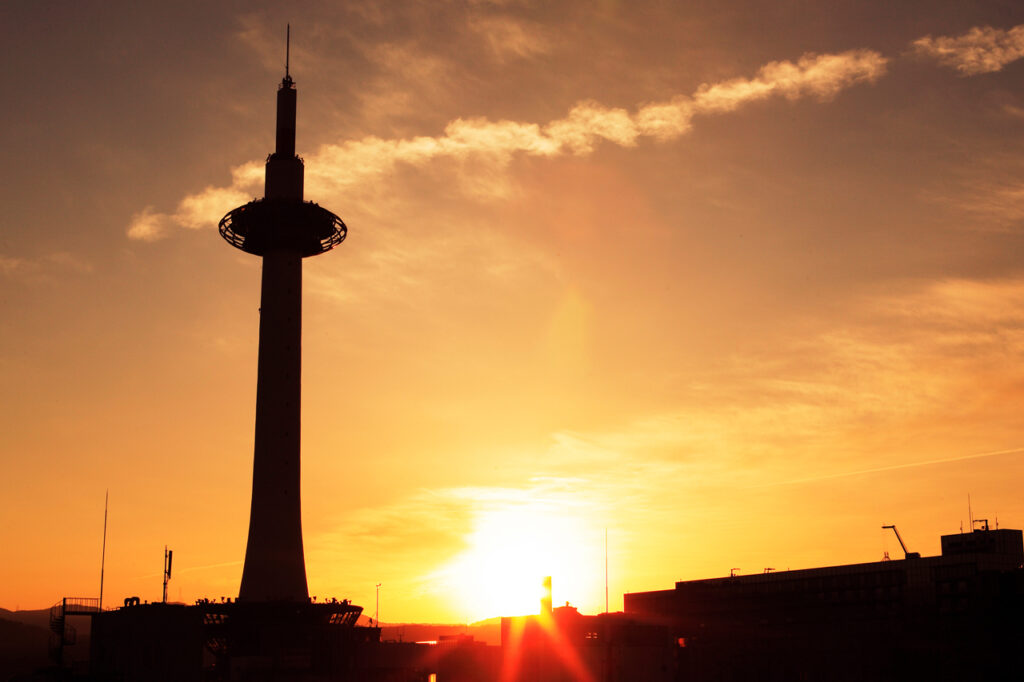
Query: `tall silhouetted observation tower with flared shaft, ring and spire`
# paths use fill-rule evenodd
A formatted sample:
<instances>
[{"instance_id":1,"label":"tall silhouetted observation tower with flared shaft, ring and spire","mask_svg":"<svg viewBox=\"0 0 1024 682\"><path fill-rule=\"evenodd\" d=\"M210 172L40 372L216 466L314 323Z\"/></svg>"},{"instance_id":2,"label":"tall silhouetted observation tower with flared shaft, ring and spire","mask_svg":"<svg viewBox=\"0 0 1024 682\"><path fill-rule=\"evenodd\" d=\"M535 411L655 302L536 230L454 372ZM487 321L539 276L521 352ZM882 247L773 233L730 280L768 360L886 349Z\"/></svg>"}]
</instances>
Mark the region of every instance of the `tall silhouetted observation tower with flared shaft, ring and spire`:
<instances>
[{"instance_id":1,"label":"tall silhouetted observation tower with flared shaft, ring and spire","mask_svg":"<svg viewBox=\"0 0 1024 682\"><path fill-rule=\"evenodd\" d=\"M264 198L240 206L218 225L231 246L263 258L252 506L239 590L247 602L309 599L299 497L302 259L330 251L347 232L338 216L303 201L303 164L295 154L296 91L287 55L286 50Z\"/></svg>"}]
</instances>

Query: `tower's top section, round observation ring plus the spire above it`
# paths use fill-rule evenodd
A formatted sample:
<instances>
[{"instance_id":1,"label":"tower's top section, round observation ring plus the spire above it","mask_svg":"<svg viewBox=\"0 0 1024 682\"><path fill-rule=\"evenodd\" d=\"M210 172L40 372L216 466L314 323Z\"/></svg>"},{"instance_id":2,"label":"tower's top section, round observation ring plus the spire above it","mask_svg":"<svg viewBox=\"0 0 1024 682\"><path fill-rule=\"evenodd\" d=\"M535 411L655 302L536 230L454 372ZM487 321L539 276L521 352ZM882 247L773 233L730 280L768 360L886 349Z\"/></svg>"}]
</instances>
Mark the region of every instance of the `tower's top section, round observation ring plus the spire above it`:
<instances>
[{"instance_id":1,"label":"tower's top section, round observation ring plus the spire above it","mask_svg":"<svg viewBox=\"0 0 1024 682\"><path fill-rule=\"evenodd\" d=\"M291 25L285 44L285 77L278 88L276 136L266 160L264 198L234 209L218 228L231 246L257 256L272 251L315 256L341 244L348 228L334 213L302 199L305 169L295 154L298 94L291 75Z\"/></svg>"}]
</instances>

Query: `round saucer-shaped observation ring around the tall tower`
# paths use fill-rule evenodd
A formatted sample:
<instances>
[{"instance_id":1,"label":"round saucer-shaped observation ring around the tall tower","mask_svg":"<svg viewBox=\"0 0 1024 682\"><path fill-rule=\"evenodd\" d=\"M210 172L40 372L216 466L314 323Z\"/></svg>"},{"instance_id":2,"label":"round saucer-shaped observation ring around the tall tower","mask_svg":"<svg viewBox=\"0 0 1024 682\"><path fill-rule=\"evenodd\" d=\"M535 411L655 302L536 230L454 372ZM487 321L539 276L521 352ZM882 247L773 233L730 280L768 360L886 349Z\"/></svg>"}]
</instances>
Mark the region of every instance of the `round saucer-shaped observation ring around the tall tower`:
<instances>
[{"instance_id":1,"label":"round saucer-shaped observation ring around the tall tower","mask_svg":"<svg viewBox=\"0 0 1024 682\"><path fill-rule=\"evenodd\" d=\"M303 258L327 253L348 233L341 218L318 204L285 199L251 201L221 218L217 229L246 253L298 251Z\"/></svg>"}]
</instances>

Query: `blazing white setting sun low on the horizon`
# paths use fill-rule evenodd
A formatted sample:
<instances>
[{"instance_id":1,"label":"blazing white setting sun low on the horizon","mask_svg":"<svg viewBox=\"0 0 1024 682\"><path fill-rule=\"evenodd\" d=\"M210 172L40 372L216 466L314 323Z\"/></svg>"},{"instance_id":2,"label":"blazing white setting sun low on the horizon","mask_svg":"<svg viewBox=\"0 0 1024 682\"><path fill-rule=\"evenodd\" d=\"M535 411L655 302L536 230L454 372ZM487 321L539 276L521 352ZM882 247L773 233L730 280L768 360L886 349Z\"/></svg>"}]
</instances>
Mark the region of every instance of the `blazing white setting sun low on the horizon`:
<instances>
[{"instance_id":1,"label":"blazing white setting sun low on the horizon","mask_svg":"<svg viewBox=\"0 0 1024 682\"><path fill-rule=\"evenodd\" d=\"M563 506L518 503L481 510L468 549L441 573L471 621L537 613L547 576L556 600L603 589L602 550L594 547L599 532Z\"/></svg>"}]
</instances>

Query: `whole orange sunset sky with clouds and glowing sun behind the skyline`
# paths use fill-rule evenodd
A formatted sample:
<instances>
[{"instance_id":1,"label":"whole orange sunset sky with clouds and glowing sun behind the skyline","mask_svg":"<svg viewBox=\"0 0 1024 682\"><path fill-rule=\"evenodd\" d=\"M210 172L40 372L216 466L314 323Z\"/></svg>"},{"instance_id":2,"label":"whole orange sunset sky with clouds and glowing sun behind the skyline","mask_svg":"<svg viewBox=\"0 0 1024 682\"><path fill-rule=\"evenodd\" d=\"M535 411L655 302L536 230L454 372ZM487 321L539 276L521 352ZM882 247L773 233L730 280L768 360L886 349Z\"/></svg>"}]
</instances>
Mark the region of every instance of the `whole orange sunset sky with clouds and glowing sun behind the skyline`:
<instances>
[{"instance_id":1,"label":"whole orange sunset sky with clouds and glowing sun behind the skyline","mask_svg":"<svg viewBox=\"0 0 1024 682\"><path fill-rule=\"evenodd\" d=\"M0 4L0 606L238 594L292 25L310 594L385 622L1024 526L1024 4Z\"/></svg>"}]
</instances>

